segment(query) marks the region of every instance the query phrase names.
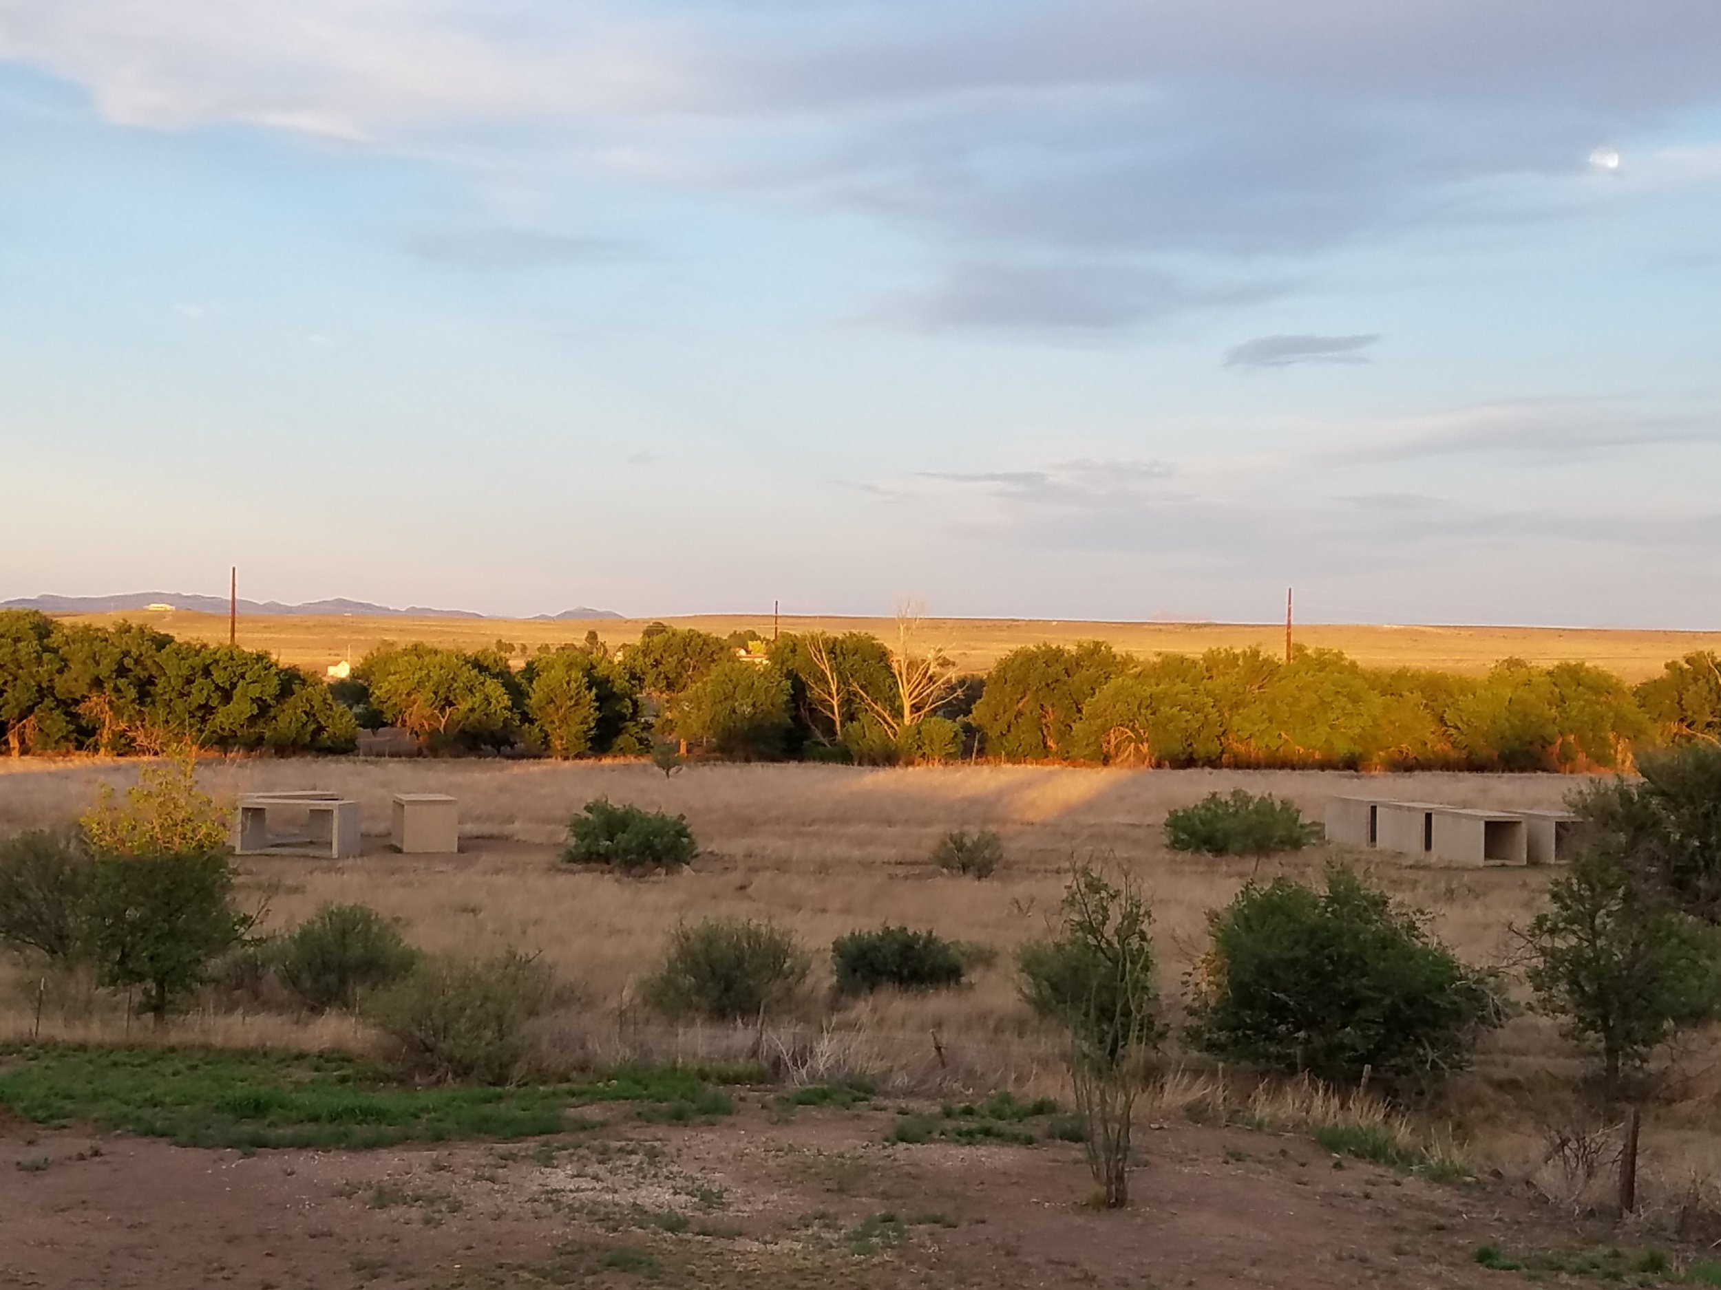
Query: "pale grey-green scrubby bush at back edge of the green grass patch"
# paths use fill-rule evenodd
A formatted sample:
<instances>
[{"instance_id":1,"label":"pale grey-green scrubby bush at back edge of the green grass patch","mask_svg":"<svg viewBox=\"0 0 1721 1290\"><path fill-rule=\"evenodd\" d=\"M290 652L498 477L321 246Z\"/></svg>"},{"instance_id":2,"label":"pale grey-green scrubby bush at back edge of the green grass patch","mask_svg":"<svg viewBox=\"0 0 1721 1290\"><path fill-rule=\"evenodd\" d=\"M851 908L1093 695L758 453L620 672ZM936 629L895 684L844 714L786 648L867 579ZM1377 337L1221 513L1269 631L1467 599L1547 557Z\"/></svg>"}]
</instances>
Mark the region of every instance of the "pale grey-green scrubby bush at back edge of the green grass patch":
<instances>
[{"instance_id":1,"label":"pale grey-green scrubby bush at back edge of the green grass patch","mask_svg":"<svg viewBox=\"0 0 1721 1290\"><path fill-rule=\"evenodd\" d=\"M403 1073L441 1084L513 1084L530 1065L532 1020L556 979L535 955L429 958L370 999Z\"/></svg>"}]
</instances>

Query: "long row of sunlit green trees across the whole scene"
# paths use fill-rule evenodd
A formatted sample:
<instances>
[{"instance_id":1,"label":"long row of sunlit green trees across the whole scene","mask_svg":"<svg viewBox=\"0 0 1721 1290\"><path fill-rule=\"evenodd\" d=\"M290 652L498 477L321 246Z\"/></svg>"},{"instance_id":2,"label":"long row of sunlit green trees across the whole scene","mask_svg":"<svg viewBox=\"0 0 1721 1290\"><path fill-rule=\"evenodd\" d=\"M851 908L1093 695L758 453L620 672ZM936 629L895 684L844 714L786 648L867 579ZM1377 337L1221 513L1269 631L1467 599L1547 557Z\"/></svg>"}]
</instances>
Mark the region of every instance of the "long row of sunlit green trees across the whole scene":
<instances>
[{"instance_id":1,"label":"long row of sunlit green trees across the whole scene","mask_svg":"<svg viewBox=\"0 0 1721 1290\"><path fill-rule=\"evenodd\" d=\"M1365 667L1337 650L1139 659L1027 645L962 674L910 621L718 636L651 624L611 650L382 645L324 685L267 654L150 628L0 612L0 736L29 752L348 752L398 726L427 750L546 757L671 750L737 760L1089 762L1143 767L1618 769L1721 743L1721 660L1637 686L1601 667L1506 659L1485 676Z\"/></svg>"}]
</instances>

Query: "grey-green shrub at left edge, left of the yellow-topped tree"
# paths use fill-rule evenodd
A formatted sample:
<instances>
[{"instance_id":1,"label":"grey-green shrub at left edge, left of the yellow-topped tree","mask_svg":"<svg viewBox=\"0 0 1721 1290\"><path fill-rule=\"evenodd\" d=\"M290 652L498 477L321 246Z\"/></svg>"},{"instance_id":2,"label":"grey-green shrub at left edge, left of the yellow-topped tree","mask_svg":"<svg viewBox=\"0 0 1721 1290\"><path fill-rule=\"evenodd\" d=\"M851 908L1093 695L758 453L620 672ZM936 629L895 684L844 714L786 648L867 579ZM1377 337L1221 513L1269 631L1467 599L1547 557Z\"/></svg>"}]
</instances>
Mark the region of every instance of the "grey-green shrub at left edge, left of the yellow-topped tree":
<instances>
[{"instance_id":1,"label":"grey-green shrub at left edge, left of the yellow-topped tree","mask_svg":"<svg viewBox=\"0 0 1721 1290\"><path fill-rule=\"evenodd\" d=\"M76 829L38 829L0 843L0 944L55 965L89 951L95 862Z\"/></svg>"}]
</instances>

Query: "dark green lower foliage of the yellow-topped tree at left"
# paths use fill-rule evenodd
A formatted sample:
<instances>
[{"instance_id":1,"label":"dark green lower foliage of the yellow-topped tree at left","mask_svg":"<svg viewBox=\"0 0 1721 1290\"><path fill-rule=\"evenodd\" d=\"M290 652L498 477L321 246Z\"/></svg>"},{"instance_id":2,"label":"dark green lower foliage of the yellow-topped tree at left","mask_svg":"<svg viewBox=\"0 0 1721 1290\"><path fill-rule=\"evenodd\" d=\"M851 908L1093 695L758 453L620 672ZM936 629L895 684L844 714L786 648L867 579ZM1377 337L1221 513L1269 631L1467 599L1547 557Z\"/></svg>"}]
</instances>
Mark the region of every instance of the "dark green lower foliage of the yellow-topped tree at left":
<instances>
[{"instance_id":1,"label":"dark green lower foliage of the yellow-topped tree at left","mask_svg":"<svg viewBox=\"0 0 1721 1290\"><path fill-rule=\"evenodd\" d=\"M160 1023L255 918L232 903L225 853L102 855L95 862L96 963L105 986L143 986Z\"/></svg>"}]
</instances>

